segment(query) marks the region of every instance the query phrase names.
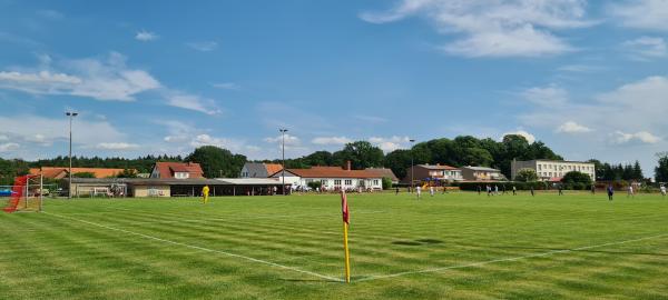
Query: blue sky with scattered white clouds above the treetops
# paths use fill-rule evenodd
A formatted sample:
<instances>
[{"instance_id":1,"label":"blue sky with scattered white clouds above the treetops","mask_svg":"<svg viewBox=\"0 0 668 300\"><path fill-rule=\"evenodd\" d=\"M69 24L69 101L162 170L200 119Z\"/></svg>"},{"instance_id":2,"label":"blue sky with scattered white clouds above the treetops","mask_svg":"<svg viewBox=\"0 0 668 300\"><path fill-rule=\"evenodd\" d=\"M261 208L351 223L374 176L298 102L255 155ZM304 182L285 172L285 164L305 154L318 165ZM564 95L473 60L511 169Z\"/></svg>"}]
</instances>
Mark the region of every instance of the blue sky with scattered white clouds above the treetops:
<instances>
[{"instance_id":1,"label":"blue sky with scattered white clouds above the treetops","mask_svg":"<svg viewBox=\"0 0 668 300\"><path fill-rule=\"evenodd\" d=\"M668 0L0 0L0 156L252 159L521 132L567 159L668 150Z\"/></svg>"}]
</instances>

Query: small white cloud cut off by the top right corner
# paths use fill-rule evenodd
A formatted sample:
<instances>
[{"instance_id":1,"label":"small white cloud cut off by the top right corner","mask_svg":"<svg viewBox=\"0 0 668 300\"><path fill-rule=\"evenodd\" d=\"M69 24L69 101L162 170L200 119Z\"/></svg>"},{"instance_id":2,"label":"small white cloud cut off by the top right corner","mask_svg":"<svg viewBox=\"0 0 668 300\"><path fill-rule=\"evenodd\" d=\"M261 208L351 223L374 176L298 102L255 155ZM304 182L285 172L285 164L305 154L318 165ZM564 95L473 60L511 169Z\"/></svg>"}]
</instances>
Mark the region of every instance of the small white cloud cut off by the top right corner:
<instances>
[{"instance_id":1,"label":"small white cloud cut off by the top right corner","mask_svg":"<svg viewBox=\"0 0 668 300\"><path fill-rule=\"evenodd\" d=\"M608 7L615 22L623 27L668 31L668 1L621 1Z\"/></svg>"}]
</instances>

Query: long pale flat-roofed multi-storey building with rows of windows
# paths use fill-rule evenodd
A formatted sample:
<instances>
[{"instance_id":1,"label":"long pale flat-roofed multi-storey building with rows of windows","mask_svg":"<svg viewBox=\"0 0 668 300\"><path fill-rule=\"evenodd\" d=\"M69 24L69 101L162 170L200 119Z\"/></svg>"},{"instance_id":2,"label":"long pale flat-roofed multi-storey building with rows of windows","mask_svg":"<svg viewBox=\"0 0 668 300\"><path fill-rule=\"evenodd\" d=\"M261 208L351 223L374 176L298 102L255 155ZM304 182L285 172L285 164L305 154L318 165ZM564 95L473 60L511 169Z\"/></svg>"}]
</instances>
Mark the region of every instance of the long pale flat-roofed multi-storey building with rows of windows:
<instances>
[{"instance_id":1,"label":"long pale flat-roofed multi-storey building with rows of windows","mask_svg":"<svg viewBox=\"0 0 668 300\"><path fill-rule=\"evenodd\" d=\"M562 160L527 160L515 161L513 160L510 164L512 179L517 177L518 172L522 169L532 169L538 174L540 180L558 181L571 171L578 171L586 173L591 177L591 180L596 181L596 168L592 162L581 161L562 161Z\"/></svg>"}]
</instances>

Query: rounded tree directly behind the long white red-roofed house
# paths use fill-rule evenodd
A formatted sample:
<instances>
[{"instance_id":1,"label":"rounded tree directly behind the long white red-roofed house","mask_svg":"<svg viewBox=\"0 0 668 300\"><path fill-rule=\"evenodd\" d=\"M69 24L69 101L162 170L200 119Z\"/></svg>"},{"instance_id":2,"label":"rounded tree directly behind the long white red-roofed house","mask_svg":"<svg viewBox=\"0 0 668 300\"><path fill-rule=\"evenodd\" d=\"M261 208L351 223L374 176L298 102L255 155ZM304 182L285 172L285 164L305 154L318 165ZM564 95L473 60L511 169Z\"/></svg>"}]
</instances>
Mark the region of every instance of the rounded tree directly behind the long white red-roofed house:
<instances>
[{"instance_id":1,"label":"rounded tree directly behind the long white red-roofed house","mask_svg":"<svg viewBox=\"0 0 668 300\"><path fill-rule=\"evenodd\" d=\"M332 156L335 163L345 166L350 160L352 168L363 170L371 167L383 167L383 150L367 141L347 143L343 150Z\"/></svg>"}]
</instances>

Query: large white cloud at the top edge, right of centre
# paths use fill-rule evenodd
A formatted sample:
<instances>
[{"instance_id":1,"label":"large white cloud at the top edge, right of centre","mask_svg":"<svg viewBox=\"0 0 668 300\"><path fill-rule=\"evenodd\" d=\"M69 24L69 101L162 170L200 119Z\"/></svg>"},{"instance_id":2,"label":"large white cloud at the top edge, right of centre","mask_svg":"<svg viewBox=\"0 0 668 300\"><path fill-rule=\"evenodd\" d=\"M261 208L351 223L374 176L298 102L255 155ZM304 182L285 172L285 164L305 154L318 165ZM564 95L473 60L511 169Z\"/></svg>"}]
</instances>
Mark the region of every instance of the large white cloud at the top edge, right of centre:
<instances>
[{"instance_id":1,"label":"large white cloud at the top edge, right of centre","mask_svg":"<svg viewBox=\"0 0 668 300\"><path fill-rule=\"evenodd\" d=\"M372 23L423 17L458 38L442 49L464 57L539 57L573 51L552 32L592 26L584 0L402 0L387 12L362 13Z\"/></svg>"}]
</instances>

